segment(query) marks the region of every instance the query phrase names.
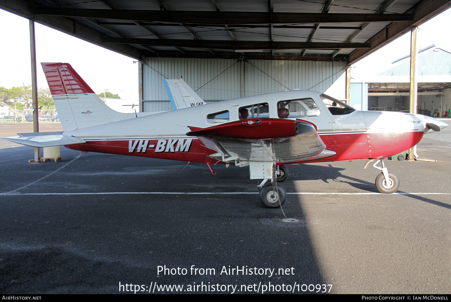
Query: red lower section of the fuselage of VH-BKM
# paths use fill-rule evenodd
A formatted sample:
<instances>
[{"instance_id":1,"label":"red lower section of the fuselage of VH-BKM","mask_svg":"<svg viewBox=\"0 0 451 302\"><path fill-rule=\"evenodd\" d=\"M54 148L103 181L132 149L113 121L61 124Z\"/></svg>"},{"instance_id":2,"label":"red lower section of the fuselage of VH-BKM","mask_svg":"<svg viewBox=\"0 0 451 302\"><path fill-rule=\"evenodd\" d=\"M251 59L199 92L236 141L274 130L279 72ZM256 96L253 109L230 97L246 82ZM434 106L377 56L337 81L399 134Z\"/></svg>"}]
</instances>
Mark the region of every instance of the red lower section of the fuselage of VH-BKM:
<instances>
[{"instance_id":1,"label":"red lower section of the fuselage of VH-BKM","mask_svg":"<svg viewBox=\"0 0 451 302\"><path fill-rule=\"evenodd\" d=\"M322 141L326 144L326 149L335 151L336 155L305 162L335 162L354 159L384 158L405 151L418 144L423 134L422 131L418 131L320 135ZM184 142L187 139L184 139ZM166 144L165 151L163 152L155 152L158 140L148 140L147 148L145 149L146 152L137 152L139 143L146 140L138 140L138 143L135 143L136 140L131 140L132 147L134 145L132 153L129 152L129 140L87 141L84 144L72 144L66 145L65 147L79 151L172 159L185 162L216 162L215 159L207 157L207 155L213 154L216 151L204 147L198 139L192 140L189 152L175 151L178 143L174 144L174 152L171 149L166 151L166 145L169 140L173 139L164 140L166 140ZM154 145L155 147L149 148L150 145Z\"/></svg>"}]
</instances>

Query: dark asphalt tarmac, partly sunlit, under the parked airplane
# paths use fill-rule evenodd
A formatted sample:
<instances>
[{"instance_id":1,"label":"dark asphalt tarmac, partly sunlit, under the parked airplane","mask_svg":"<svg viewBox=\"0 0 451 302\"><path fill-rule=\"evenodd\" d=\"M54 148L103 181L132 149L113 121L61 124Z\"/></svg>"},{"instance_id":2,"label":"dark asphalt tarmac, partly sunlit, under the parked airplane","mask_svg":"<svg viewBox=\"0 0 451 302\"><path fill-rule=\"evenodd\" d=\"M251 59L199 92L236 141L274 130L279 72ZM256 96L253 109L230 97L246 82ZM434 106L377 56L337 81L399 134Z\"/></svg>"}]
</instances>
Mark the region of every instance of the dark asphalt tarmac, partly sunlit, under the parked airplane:
<instances>
[{"instance_id":1,"label":"dark asphalt tarmac, partly sunlit, under the parked airplane","mask_svg":"<svg viewBox=\"0 0 451 302\"><path fill-rule=\"evenodd\" d=\"M0 192L79 154L61 147L62 162L29 164L32 148L0 148ZM289 165L281 185L308 193L288 195L292 223L262 207L247 167L213 176L205 164L87 153L0 195L0 292L450 293L451 127L418 153L437 162L385 161L412 194L377 194L364 161Z\"/></svg>"}]
</instances>

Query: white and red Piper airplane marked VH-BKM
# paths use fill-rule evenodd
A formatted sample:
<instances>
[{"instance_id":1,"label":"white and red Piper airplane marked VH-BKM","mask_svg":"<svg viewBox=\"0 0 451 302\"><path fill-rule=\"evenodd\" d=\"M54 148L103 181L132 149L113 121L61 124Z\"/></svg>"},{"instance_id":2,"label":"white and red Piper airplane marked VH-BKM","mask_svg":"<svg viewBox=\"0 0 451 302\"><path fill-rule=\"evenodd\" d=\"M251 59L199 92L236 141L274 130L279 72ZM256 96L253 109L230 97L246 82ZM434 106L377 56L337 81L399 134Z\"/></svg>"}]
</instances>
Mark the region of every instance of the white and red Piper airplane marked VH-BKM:
<instances>
[{"instance_id":1,"label":"white and red Piper airplane marked VH-BKM","mask_svg":"<svg viewBox=\"0 0 451 302\"><path fill-rule=\"evenodd\" d=\"M68 63L41 63L64 132L4 137L31 147L69 149L249 166L266 207L279 207L286 193L276 185L288 176L285 165L355 159L377 161L381 193L394 193L398 177L383 158L416 145L446 123L419 114L357 111L327 95L290 90L213 104L183 81L165 80L173 110L119 113L110 109ZM377 164L381 162L381 166ZM272 180L267 182L267 180Z\"/></svg>"}]
</instances>

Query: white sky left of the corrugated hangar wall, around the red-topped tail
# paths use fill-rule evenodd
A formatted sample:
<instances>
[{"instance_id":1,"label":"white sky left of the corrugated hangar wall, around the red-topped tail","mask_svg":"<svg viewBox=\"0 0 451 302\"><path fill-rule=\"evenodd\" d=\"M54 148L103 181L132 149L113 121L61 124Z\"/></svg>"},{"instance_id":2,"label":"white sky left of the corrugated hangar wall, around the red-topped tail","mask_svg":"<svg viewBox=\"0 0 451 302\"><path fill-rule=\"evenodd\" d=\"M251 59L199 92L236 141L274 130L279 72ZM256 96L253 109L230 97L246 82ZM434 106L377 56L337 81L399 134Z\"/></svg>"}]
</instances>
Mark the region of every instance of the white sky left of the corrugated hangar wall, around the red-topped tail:
<instances>
[{"instance_id":1,"label":"white sky left of the corrugated hangar wall, around the red-topped tail","mask_svg":"<svg viewBox=\"0 0 451 302\"><path fill-rule=\"evenodd\" d=\"M31 85L28 19L0 9L0 86ZM138 64L122 54L35 23L37 86L48 88L41 62L69 63L96 93L138 102ZM8 41L8 42L6 42Z\"/></svg>"}]
</instances>

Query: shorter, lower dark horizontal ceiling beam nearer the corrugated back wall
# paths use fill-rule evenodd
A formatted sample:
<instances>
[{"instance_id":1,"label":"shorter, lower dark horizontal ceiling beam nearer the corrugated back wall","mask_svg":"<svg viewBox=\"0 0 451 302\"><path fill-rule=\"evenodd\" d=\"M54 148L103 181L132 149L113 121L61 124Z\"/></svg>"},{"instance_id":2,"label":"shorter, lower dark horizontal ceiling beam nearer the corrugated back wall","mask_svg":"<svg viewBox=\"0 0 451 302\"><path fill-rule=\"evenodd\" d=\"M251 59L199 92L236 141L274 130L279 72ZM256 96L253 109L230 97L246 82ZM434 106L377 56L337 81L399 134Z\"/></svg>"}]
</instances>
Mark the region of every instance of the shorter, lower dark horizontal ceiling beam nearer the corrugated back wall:
<instances>
[{"instance_id":1,"label":"shorter, lower dark horizontal ceiling beam nearer the corrugated back wall","mask_svg":"<svg viewBox=\"0 0 451 302\"><path fill-rule=\"evenodd\" d=\"M285 42L285 41L223 41L223 40L188 40L188 39L139 39L139 38L104 38L110 43L141 44L155 46L179 46L193 48L214 48L223 50L285 50L285 49L337 49L370 48L368 43L336 42Z\"/></svg>"}]
</instances>

